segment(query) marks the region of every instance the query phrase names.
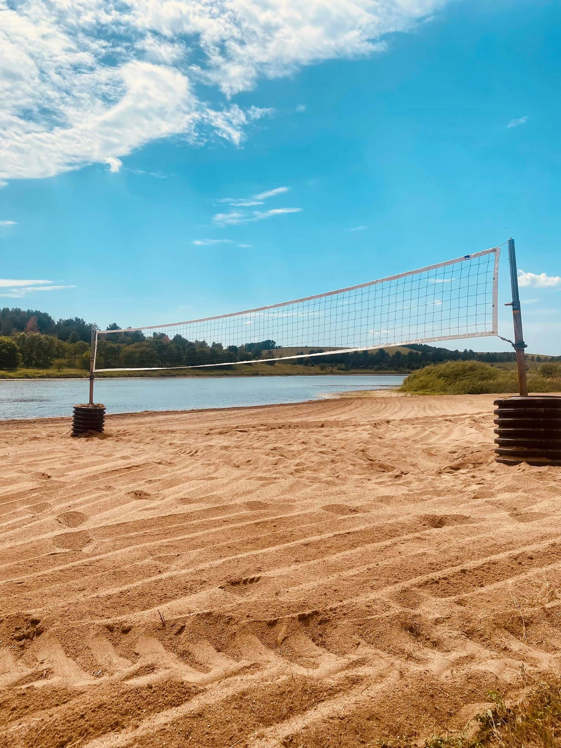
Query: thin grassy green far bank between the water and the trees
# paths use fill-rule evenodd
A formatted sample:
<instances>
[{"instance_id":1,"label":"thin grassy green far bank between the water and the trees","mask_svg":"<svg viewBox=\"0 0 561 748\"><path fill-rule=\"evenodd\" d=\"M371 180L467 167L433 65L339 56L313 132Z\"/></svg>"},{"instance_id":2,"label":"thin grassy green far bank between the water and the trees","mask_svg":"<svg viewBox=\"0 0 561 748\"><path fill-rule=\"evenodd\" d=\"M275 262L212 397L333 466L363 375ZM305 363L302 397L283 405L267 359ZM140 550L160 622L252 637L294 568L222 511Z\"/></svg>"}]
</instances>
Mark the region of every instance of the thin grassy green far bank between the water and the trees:
<instances>
[{"instance_id":1,"label":"thin grassy green far bank between the water and the trees","mask_svg":"<svg viewBox=\"0 0 561 748\"><path fill-rule=\"evenodd\" d=\"M128 371L128 372L100 372L96 374L99 379L147 377L147 378L175 378L175 377L222 377L222 376L321 376L321 375L345 375L345 374L380 374L380 375L406 375L408 371L404 370L370 370L354 369L340 370L337 367L320 368L321 364L316 366L304 366L304 364L290 364L286 361L277 361L275 364L267 364L265 361L259 361L254 364L231 364L227 367L199 368L199 369L167 369L167 370L148 370L148 371ZM13 371L0 371L1 379L86 379L90 373L84 369L72 369L64 367L61 370L55 369L16 369Z\"/></svg>"}]
</instances>

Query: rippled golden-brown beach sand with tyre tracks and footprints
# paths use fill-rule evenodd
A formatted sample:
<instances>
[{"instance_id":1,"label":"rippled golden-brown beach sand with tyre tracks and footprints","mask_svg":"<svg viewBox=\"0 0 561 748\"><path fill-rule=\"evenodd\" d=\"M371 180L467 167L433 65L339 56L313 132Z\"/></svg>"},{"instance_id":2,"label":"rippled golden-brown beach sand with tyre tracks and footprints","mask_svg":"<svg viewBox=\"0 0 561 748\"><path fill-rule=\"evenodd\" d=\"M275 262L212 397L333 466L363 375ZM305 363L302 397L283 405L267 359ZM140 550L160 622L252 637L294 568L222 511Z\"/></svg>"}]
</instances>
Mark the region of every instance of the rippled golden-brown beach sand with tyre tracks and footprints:
<instances>
[{"instance_id":1,"label":"rippled golden-brown beach sand with tyre tracks and footprints","mask_svg":"<svg viewBox=\"0 0 561 748\"><path fill-rule=\"evenodd\" d=\"M422 743L560 672L561 470L493 399L2 423L0 745Z\"/></svg>"}]
</instances>

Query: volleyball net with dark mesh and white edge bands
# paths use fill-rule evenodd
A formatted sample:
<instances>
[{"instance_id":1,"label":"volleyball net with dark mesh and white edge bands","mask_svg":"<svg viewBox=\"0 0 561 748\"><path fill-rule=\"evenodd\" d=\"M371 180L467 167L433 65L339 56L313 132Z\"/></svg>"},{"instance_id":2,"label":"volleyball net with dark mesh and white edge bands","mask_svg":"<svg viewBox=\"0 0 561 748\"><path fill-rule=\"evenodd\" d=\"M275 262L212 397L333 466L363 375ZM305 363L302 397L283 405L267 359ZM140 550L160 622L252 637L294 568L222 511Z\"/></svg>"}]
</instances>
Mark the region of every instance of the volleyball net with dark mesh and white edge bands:
<instances>
[{"instance_id":1,"label":"volleyball net with dark mesh and white edge bands","mask_svg":"<svg viewBox=\"0 0 561 748\"><path fill-rule=\"evenodd\" d=\"M94 370L224 366L494 335L499 254L232 314L98 331Z\"/></svg>"}]
</instances>

